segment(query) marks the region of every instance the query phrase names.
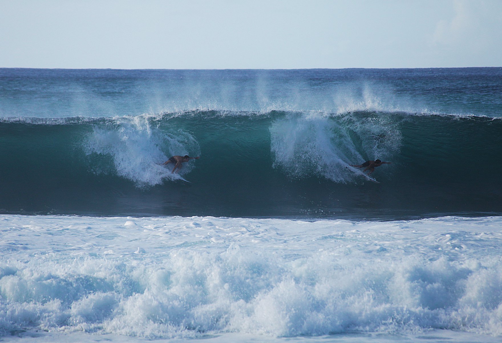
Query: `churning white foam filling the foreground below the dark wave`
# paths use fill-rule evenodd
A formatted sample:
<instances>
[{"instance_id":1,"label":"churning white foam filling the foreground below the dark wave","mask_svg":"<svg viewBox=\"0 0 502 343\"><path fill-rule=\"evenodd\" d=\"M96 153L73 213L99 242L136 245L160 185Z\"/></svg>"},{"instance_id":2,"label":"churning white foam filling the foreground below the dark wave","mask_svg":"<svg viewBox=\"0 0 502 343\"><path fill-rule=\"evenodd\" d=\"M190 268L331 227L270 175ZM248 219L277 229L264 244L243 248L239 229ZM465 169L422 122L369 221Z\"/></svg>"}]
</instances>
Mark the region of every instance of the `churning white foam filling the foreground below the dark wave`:
<instances>
[{"instance_id":1,"label":"churning white foam filling the foreground below the dark wave","mask_svg":"<svg viewBox=\"0 0 502 343\"><path fill-rule=\"evenodd\" d=\"M499 336L501 224L1 215L0 330Z\"/></svg>"}]
</instances>

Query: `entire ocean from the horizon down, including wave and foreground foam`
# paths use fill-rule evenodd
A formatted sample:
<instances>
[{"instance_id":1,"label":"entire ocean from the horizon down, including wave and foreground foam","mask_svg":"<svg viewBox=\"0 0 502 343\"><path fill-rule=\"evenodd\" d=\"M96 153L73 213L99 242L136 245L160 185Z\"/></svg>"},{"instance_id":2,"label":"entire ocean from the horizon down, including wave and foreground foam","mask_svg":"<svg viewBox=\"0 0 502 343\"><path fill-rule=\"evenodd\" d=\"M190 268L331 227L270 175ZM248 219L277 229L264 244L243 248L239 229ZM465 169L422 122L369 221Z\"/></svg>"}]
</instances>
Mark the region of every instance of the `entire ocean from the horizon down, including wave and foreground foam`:
<instances>
[{"instance_id":1,"label":"entire ocean from the horizon down, including wave and foreground foam","mask_svg":"<svg viewBox=\"0 0 502 343\"><path fill-rule=\"evenodd\" d=\"M1 340L502 339L502 68L0 68L0 157Z\"/></svg>"}]
</instances>

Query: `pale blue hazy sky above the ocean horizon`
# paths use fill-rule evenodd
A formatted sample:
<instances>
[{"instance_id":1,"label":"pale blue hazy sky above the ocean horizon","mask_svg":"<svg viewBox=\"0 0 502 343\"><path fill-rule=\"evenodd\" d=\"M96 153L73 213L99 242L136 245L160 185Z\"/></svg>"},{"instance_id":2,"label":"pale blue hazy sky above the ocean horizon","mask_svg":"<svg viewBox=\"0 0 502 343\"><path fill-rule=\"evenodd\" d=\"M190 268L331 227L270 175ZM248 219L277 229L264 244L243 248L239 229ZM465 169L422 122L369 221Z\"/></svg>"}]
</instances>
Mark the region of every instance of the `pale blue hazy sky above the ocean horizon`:
<instances>
[{"instance_id":1,"label":"pale blue hazy sky above the ocean horizon","mask_svg":"<svg viewBox=\"0 0 502 343\"><path fill-rule=\"evenodd\" d=\"M0 67L502 66L502 0L0 0Z\"/></svg>"}]
</instances>

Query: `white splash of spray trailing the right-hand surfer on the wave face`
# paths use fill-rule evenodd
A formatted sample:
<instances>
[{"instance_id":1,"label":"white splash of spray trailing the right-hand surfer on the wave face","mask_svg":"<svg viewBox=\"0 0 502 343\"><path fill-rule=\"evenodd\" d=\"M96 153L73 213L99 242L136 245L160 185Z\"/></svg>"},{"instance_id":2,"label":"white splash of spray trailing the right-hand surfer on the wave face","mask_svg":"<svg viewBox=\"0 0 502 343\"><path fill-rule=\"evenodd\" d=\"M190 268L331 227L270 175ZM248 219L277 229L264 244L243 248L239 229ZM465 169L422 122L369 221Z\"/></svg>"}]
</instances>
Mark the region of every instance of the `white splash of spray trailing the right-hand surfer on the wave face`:
<instances>
[{"instance_id":1,"label":"white splash of spray trailing the right-hand surfer on the wave face","mask_svg":"<svg viewBox=\"0 0 502 343\"><path fill-rule=\"evenodd\" d=\"M354 182L358 174L347 168L351 161L390 158L401 144L397 124L376 113L297 113L275 120L270 132L274 167L293 179L320 176Z\"/></svg>"}]
</instances>

